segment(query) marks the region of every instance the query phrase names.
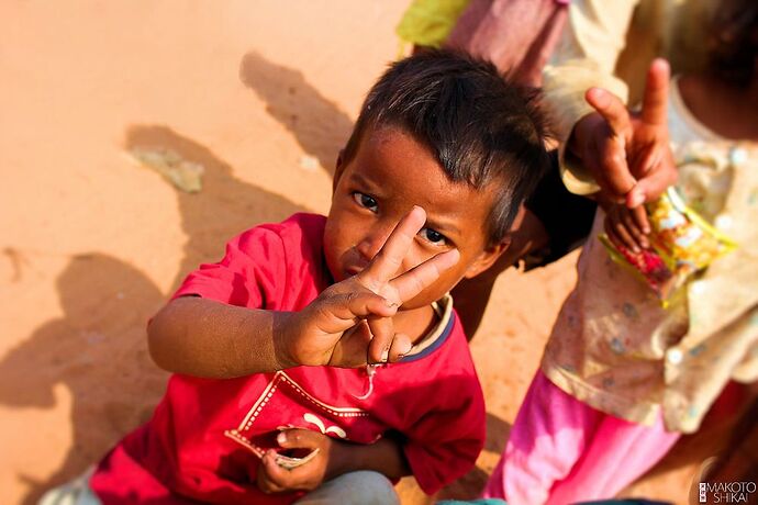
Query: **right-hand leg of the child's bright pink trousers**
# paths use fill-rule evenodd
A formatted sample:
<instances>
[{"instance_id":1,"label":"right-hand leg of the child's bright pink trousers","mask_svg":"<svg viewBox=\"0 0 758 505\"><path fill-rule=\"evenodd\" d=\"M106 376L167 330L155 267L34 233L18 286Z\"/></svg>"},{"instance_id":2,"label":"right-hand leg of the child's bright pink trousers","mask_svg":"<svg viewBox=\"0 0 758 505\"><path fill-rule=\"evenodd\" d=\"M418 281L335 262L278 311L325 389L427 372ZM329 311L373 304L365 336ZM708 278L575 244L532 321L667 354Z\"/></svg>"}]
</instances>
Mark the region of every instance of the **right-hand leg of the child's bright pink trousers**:
<instances>
[{"instance_id":1,"label":"right-hand leg of the child's bright pink trousers","mask_svg":"<svg viewBox=\"0 0 758 505\"><path fill-rule=\"evenodd\" d=\"M604 416L571 473L557 482L547 503L612 498L653 468L681 434Z\"/></svg>"}]
</instances>

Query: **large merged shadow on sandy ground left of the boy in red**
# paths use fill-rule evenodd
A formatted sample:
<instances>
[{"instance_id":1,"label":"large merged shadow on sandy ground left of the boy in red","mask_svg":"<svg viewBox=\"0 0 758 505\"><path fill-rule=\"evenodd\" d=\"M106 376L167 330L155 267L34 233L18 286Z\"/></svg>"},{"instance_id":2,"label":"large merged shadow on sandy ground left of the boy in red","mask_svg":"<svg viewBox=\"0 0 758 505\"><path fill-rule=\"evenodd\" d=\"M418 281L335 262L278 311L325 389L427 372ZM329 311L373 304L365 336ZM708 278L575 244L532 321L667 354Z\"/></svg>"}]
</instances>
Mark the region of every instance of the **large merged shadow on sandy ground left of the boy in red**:
<instances>
[{"instance_id":1,"label":"large merged shadow on sandy ground left of the boy in red","mask_svg":"<svg viewBox=\"0 0 758 505\"><path fill-rule=\"evenodd\" d=\"M130 128L125 147L170 149L205 169L200 193L176 192L188 240L171 290L200 262L220 259L235 234L302 210L236 179L210 149L166 126ZM30 487L24 504L36 503L51 486L83 472L146 420L167 377L148 357L145 325L170 293L134 267L98 252L75 257L57 288L63 318L45 323L0 361L4 405L53 408L54 386L63 384L71 393L71 448L44 482L19 473Z\"/></svg>"}]
</instances>

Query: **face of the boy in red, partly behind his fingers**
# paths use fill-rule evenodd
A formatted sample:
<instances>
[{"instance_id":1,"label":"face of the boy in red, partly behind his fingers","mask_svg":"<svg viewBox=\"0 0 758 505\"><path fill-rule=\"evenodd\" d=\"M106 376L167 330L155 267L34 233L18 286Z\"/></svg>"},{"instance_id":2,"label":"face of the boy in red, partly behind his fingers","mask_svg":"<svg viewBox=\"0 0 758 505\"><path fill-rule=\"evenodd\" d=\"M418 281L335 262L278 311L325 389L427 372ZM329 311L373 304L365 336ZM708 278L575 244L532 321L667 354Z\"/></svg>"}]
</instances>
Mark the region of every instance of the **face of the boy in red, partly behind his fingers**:
<instances>
[{"instance_id":1,"label":"face of the boy in red, partly behind his fingers","mask_svg":"<svg viewBox=\"0 0 758 505\"><path fill-rule=\"evenodd\" d=\"M334 194L324 232L326 262L339 282L361 271L413 205L426 211L397 276L457 248L460 259L403 308L439 300L466 277L490 267L508 247L487 247L487 217L493 191L450 181L432 152L402 130L367 128L353 159L337 160Z\"/></svg>"}]
</instances>

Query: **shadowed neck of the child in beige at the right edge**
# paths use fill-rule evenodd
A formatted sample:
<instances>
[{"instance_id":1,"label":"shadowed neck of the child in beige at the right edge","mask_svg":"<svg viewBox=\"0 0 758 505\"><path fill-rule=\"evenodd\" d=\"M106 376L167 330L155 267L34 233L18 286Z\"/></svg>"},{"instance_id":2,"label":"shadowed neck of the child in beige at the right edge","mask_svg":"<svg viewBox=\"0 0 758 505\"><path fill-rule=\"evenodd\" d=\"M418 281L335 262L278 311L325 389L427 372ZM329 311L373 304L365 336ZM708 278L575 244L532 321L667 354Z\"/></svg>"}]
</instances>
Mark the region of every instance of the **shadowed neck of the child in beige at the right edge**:
<instances>
[{"instance_id":1,"label":"shadowed neck of the child in beige at the right edge","mask_svg":"<svg viewBox=\"0 0 758 505\"><path fill-rule=\"evenodd\" d=\"M758 142L758 83L740 88L693 75L679 80L679 92L690 113L712 132L735 141Z\"/></svg>"}]
</instances>

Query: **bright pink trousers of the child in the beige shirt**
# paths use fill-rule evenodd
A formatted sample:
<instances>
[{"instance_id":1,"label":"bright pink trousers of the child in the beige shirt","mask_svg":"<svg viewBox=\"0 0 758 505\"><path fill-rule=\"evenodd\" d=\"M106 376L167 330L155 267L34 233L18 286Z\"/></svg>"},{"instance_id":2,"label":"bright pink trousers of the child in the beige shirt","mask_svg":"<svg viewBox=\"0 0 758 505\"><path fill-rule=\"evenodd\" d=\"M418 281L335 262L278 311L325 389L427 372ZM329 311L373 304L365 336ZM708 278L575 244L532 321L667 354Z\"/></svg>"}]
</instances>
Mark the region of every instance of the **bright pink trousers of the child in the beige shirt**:
<instances>
[{"instance_id":1,"label":"bright pink trousers of the child in the beige shirt","mask_svg":"<svg viewBox=\"0 0 758 505\"><path fill-rule=\"evenodd\" d=\"M542 371L532 381L484 496L566 504L613 497L657 463L680 434L643 426L565 393Z\"/></svg>"}]
</instances>

